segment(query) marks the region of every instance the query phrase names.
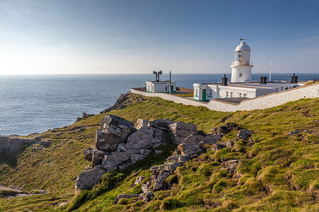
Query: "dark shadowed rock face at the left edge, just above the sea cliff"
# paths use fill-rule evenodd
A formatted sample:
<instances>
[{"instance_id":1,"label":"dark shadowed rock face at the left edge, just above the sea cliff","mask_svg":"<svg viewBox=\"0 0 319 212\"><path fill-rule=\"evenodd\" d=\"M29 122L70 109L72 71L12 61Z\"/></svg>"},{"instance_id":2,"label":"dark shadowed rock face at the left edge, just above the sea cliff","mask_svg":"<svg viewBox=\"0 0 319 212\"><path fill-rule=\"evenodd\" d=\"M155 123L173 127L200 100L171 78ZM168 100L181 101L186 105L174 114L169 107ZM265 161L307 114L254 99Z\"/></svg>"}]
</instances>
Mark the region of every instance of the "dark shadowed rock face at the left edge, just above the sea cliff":
<instances>
[{"instance_id":1,"label":"dark shadowed rock face at the left edge, just above the sea cliff","mask_svg":"<svg viewBox=\"0 0 319 212\"><path fill-rule=\"evenodd\" d=\"M18 136L0 136L0 153L6 154L17 152L33 144L35 141L26 138L17 138Z\"/></svg>"}]
</instances>

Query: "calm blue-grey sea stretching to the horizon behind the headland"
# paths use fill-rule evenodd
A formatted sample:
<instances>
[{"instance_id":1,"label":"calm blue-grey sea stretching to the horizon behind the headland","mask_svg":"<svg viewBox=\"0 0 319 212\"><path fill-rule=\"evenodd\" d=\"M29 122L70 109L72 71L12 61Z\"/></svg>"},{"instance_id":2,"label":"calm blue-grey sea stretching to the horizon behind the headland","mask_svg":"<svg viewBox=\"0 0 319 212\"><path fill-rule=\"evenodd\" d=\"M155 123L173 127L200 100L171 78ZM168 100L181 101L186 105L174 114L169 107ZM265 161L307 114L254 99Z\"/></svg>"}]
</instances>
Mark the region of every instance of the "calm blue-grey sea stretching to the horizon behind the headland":
<instances>
[{"instance_id":1,"label":"calm blue-grey sea stretching to the horizon behind the headland","mask_svg":"<svg viewBox=\"0 0 319 212\"><path fill-rule=\"evenodd\" d=\"M269 74L253 74L253 80ZM296 74L298 80L319 78ZM221 81L223 74L173 74L177 86ZM272 80L290 80L291 74L272 74ZM230 74L227 74L230 78ZM161 75L161 80L169 78ZM145 87L152 74L26 75L0 76L0 135L28 135L73 124L82 113L99 114L121 93Z\"/></svg>"}]
</instances>

